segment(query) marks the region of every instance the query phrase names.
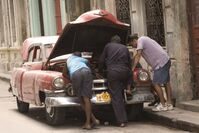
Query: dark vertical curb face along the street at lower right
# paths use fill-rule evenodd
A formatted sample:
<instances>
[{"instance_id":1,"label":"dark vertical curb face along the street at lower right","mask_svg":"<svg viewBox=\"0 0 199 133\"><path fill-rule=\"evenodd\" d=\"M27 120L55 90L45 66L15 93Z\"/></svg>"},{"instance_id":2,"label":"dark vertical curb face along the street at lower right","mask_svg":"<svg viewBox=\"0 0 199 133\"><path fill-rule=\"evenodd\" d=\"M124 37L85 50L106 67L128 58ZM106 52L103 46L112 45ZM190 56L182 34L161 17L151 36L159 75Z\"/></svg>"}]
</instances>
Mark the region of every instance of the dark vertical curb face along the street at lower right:
<instances>
[{"instance_id":1,"label":"dark vertical curb face along the street at lower right","mask_svg":"<svg viewBox=\"0 0 199 133\"><path fill-rule=\"evenodd\" d=\"M190 132L195 132L195 133L199 132L199 123L198 124L191 123L191 122L188 122L188 121L185 121L182 119L178 119L177 117L176 118L169 117L169 116L167 117L167 116L165 116L165 114L162 115L161 112L154 113L149 109L145 109L144 114L145 114L146 118L148 118L154 122L169 126L169 127L173 127L173 128L177 128L177 129L181 129L181 130L185 130L185 131L190 131Z\"/></svg>"}]
</instances>

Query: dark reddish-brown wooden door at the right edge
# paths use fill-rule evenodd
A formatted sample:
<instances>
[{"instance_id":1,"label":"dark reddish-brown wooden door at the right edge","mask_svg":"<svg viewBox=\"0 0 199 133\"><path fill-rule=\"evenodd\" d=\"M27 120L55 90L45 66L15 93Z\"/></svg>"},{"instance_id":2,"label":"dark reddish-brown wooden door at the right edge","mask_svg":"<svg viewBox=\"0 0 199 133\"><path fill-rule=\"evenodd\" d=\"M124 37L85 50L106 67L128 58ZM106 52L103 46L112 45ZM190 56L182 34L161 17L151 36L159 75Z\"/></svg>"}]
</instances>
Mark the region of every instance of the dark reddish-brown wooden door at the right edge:
<instances>
[{"instance_id":1,"label":"dark reddish-brown wooden door at the right edge","mask_svg":"<svg viewBox=\"0 0 199 133\"><path fill-rule=\"evenodd\" d=\"M199 0L187 0L191 36L194 98L199 98Z\"/></svg>"}]
</instances>

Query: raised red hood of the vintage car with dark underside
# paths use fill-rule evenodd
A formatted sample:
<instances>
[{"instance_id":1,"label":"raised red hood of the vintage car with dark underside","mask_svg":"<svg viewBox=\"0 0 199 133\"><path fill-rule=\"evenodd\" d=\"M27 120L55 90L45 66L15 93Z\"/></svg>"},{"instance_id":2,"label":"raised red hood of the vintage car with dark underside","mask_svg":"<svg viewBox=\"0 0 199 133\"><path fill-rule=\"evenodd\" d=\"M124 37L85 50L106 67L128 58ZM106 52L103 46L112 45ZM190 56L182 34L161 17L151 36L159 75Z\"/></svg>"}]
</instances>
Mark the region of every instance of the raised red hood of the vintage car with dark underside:
<instances>
[{"instance_id":1,"label":"raised red hood of the vintage car with dark underside","mask_svg":"<svg viewBox=\"0 0 199 133\"><path fill-rule=\"evenodd\" d=\"M118 21L105 10L86 12L65 26L48 61L74 51L100 54L113 35L119 35L126 44L129 31L129 24Z\"/></svg>"}]
</instances>

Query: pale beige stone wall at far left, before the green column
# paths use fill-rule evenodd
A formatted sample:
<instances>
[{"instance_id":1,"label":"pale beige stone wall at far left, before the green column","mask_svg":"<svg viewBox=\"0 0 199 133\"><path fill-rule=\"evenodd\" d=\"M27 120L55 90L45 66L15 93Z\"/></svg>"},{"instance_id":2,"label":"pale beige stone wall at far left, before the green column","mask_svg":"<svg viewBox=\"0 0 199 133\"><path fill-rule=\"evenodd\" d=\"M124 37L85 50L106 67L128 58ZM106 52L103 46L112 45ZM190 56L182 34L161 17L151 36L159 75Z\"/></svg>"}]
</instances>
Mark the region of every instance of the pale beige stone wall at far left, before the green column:
<instances>
[{"instance_id":1,"label":"pale beige stone wall at far left, before the green column","mask_svg":"<svg viewBox=\"0 0 199 133\"><path fill-rule=\"evenodd\" d=\"M27 2L26 0L1 0L0 6L3 15L3 23L0 24L3 29L0 44L0 72L7 72L21 64L20 48L22 40L29 32L25 10Z\"/></svg>"}]
</instances>

